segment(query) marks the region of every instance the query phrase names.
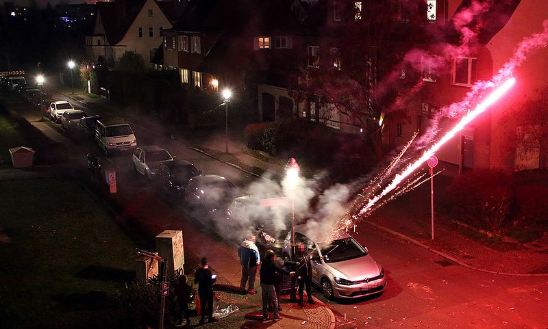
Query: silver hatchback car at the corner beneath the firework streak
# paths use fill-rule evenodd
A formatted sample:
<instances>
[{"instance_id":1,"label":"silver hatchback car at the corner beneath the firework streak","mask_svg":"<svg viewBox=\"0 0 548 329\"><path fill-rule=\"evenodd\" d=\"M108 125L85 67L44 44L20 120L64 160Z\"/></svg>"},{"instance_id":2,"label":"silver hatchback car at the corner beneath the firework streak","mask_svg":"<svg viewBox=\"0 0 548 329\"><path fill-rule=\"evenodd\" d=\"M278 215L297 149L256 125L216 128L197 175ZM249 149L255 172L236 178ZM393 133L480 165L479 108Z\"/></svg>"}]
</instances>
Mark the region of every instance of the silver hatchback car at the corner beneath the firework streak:
<instances>
[{"instance_id":1,"label":"silver hatchback car at the corner beneath the firework streak","mask_svg":"<svg viewBox=\"0 0 548 329\"><path fill-rule=\"evenodd\" d=\"M317 231L317 230L316 230ZM325 298L358 298L382 293L386 287L384 269L347 233L333 241L314 233L306 224L295 226L295 242L312 257L312 282ZM285 259L291 258L291 232L284 241Z\"/></svg>"}]
</instances>

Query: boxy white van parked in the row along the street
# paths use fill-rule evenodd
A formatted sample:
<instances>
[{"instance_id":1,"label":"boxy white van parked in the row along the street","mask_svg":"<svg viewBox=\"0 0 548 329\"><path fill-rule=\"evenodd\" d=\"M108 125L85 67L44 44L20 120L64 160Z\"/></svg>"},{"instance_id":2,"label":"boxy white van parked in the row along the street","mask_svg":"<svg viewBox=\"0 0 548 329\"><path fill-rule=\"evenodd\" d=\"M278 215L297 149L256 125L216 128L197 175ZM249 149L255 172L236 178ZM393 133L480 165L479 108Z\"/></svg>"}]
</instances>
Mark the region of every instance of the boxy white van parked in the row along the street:
<instances>
[{"instance_id":1,"label":"boxy white van parked in the row along the street","mask_svg":"<svg viewBox=\"0 0 548 329\"><path fill-rule=\"evenodd\" d=\"M121 118L97 120L95 140L106 156L112 151L131 151L137 147L132 127L129 127L129 124Z\"/></svg>"}]
</instances>

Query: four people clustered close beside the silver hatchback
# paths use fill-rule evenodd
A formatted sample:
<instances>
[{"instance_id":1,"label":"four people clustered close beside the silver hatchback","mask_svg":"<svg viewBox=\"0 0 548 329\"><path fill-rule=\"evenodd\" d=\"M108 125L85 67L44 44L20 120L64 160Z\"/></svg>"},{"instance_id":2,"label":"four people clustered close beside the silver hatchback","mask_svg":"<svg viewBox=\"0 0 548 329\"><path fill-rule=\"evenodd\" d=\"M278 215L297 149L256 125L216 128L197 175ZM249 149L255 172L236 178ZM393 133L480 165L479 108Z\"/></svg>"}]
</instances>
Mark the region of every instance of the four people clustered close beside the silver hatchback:
<instances>
[{"instance_id":1,"label":"four people clustered close beside the silver hatchback","mask_svg":"<svg viewBox=\"0 0 548 329\"><path fill-rule=\"evenodd\" d=\"M257 267L261 264L260 253L255 244L255 236L244 239L238 249L240 263L242 265L242 278L240 291L242 293L255 293L255 276ZM282 292L282 280L285 275L291 278L290 301L296 302L296 283L299 286L299 305L303 304L304 289L310 304L315 304L312 299L312 264L310 256L306 254L303 244L298 244L295 250L296 261L284 261L277 259L273 250L266 250L262 265L260 265L260 282L262 290L262 319L269 319L269 311L274 313L274 320L282 319L279 311L279 296ZM297 282L295 282L297 280ZM247 283L247 290L245 289Z\"/></svg>"}]
</instances>

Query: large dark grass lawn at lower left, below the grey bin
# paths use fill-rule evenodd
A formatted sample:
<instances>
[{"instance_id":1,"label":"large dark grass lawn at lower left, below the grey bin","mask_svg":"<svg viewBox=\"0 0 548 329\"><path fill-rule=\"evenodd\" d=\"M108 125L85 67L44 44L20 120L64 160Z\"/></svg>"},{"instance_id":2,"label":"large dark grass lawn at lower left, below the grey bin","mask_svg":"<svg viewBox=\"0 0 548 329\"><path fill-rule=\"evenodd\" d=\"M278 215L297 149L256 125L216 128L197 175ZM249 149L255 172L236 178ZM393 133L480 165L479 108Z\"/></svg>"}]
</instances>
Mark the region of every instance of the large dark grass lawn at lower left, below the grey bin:
<instances>
[{"instance_id":1,"label":"large dark grass lawn at lower left, below the grey bin","mask_svg":"<svg viewBox=\"0 0 548 329\"><path fill-rule=\"evenodd\" d=\"M0 139L1 140L1 139ZM0 181L0 328L87 328L134 278L134 241L74 181Z\"/></svg>"}]
</instances>

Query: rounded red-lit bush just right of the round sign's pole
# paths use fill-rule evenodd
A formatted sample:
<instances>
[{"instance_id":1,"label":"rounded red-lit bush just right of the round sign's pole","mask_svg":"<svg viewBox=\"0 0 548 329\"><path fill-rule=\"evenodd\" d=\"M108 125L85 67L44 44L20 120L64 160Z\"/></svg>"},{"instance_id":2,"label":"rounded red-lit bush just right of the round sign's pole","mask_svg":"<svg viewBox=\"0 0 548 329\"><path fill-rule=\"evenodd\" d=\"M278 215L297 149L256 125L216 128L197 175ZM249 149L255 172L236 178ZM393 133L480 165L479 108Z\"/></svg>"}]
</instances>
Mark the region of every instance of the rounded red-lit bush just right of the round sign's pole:
<instances>
[{"instance_id":1,"label":"rounded red-lit bush just right of the round sign's pole","mask_svg":"<svg viewBox=\"0 0 548 329\"><path fill-rule=\"evenodd\" d=\"M512 176L503 170L471 170L458 176L445 194L449 215L466 224L498 230L513 201Z\"/></svg>"}]
</instances>

